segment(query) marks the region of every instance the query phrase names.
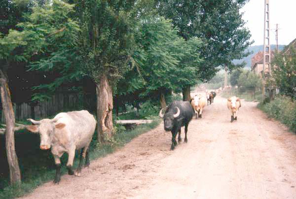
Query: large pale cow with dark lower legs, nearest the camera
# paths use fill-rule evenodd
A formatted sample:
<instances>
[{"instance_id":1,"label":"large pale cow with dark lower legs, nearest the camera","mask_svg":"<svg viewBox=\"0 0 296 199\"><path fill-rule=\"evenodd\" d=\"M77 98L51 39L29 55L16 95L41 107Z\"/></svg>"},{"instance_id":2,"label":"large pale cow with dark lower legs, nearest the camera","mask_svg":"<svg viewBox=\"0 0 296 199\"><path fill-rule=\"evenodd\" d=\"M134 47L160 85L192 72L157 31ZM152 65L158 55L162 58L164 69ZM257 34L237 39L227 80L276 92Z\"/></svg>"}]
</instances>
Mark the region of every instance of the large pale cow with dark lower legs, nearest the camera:
<instances>
[{"instance_id":1,"label":"large pale cow with dark lower legs, nearest the camera","mask_svg":"<svg viewBox=\"0 0 296 199\"><path fill-rule=\"evenodd\" d=\"M66 152L69 155L67 169L68 174L73 175L73 161L75 150L81 149L79 165L75 171L80 176L82 161L85 158L85 166L89 166L88 147L96 129L96 120L87 110L59 113L53 119L36 121L28 119L33 125L27 129L40 134L40 149L51 148L51 153L56 164L54 183L61 180L61 156Z\"/></svg>"}]
</instances>

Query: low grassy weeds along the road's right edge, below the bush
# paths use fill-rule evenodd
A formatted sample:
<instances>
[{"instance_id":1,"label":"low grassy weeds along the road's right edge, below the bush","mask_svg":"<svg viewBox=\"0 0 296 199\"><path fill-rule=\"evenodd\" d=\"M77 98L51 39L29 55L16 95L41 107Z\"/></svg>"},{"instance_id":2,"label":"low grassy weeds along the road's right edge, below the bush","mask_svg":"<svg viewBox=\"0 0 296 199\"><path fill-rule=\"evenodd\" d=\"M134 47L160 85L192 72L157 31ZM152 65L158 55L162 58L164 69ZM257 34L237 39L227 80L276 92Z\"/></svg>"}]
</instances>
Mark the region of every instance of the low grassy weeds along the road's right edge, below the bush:
<instances>
[{"instance_id":1,"label":"low grassy weeds along the road's right edge, below the bush","mask_svg":"<svg viewBox=\"0 0 296 199\"><path fill-rule=\"evenodd\" d=\"M287 125L296 133L296 101L286 96L276 96L269 103L259 103L258 108L269 118L274 118Z\"/></svg>"}]
</instances>

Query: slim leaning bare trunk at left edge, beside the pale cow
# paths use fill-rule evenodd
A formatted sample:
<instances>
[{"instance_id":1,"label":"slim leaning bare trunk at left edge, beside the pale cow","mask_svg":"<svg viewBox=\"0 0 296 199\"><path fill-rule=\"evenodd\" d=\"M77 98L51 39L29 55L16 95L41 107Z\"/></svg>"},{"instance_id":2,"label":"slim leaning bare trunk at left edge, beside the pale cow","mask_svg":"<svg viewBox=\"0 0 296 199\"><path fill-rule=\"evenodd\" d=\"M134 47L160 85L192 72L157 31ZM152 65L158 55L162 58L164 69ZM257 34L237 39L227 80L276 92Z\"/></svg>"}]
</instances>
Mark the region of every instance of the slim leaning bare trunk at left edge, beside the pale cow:
<instances>
[{"instance_id":1,"label":"slim leaning bare trunk at left edge, beside the pale cow","mask_svg":"<svg viewBox=\"0 0 296 199\"><path fill-rule=\"evenodd\" d=\"M8 87L7 76L0 70L0 90L1 90L1 102L2 110L5 117L6 131L5 131L5 147L7 162L9 165L10 184L16 184L21 182L21 172L18 164L18 159L15 153L14 146L14 111L12 107L10 91Z\"/></svg>"}]
</instances>

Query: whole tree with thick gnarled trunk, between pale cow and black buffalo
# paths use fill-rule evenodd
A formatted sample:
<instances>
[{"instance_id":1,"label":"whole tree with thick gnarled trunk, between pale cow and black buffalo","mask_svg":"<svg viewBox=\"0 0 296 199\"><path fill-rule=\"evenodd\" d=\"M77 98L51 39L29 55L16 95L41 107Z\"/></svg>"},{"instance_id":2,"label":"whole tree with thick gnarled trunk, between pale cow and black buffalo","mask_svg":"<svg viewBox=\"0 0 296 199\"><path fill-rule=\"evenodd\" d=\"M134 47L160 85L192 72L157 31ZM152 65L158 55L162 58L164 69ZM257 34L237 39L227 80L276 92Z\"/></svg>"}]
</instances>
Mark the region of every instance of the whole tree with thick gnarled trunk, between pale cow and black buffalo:
<instances>
[{"instance_id":1,"label":"whole tree with thick gnarled trunk, between pale cow and black buffalo","mask_svg":"<svg viewBox=\"0 0 296 199\"><path fill-rule=\"evenodd\" d=\"M98 140L113 135L113 89L130 69L133 55L133 15L135 0L73 0L74 16L79 21L81 65L96 83Z\"/></svg>"}]
</instances>

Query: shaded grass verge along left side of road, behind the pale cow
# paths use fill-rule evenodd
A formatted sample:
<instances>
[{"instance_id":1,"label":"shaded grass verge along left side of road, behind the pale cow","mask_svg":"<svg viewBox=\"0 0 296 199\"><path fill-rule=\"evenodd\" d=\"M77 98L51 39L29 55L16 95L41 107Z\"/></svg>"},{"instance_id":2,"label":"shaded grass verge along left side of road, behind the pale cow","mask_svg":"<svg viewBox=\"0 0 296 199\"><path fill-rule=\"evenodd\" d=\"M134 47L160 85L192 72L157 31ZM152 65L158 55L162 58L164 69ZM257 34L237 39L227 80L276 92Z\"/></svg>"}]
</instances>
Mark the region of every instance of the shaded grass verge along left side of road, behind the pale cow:
<instances>
[{"instance_id":1,"label":"shaded grass verge along left side of road, behind the pale cow","mask_svg":"<svg viewBox=\"0 0 296 199\"><path fill-rule=\"evenodd\" d=\"M146 133L159 125L160 119L158 117L150 118L153 122L135 127L127 131L123 126L115 125L115 135L108 143L98 143L97 133L94 134L90 144L90 160L95 160L104 157L118 148L130 142L136 136ZM3 135L0 135L3 136ZM2 137L0 140L4 140ZM39 135L35 133L28 133L27 130L21 130L15 133L16 152L19 158L19 164L22 174L22 183L14 186L9 186L7 176L3 173L8 173L1 168L0 173L0 199L9 199L24 196L37 188L39 185L53 181L55 175L55 165L50 150L39 149ZM4 142L4 141L3 141ZM2 160L6 160L4 143L0 143L0 153ZM65 154L61 158L62 174L67 173L66 164L68 155ZM7 162L2 162L1 165L7 165ZM78 165L78 153L76 151L74 159L74 168ZM6 174L7 174L6 173ZM62 179L63 180L63 179ZM59 186L59 185L56 185Z\"/></svg>"}]
</instances>

